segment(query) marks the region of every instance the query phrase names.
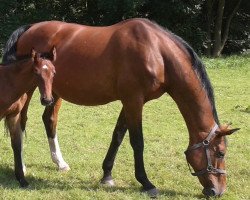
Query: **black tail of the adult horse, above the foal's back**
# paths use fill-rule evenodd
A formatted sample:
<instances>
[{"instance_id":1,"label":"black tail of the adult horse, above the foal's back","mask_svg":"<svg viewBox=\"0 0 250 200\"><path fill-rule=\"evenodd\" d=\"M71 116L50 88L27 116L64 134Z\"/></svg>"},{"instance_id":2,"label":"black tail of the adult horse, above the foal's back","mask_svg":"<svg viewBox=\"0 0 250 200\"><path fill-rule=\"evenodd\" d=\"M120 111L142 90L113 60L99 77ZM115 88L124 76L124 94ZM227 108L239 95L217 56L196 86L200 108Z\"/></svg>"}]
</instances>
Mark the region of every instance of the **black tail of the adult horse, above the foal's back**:
<instances>
[{"instance_id":1,"label":"black tail of the adult horse, above the foal's back","mask_svg":"<svg viewBox=\"0 0 250 200\"><path fill-rule=\"evenodd\" d=\"M17 41L19 39L19 37L25 32L27 31L32 25L25 25L25 26L21 26L20 28L18 28L17 30L15 30L9 40L7 41L5 48L4 48L4 52L3 52L3 63L4 64L8 64L11 62L14 62L17 60L16 58L16 47L17 47Z\"/></svg>"}]
</instances>

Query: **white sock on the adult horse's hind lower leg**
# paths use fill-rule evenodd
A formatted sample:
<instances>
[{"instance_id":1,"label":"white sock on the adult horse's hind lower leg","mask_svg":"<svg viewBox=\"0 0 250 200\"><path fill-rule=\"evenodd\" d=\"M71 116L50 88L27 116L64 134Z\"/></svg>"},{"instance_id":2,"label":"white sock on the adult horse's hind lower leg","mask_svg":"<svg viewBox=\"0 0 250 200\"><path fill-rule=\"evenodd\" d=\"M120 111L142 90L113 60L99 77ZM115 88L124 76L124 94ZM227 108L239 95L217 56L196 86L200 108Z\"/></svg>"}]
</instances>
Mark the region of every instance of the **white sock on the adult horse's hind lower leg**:
<instances>
[{"instance_id":1,"label":"white sock on the adult horse's hind lower leg","mask_svg":"<svg viewBox=\"0 0 250 200\"><path fill-rule=\"evenodd\" d=\"M52 161L57 164L59 170L61 171L70 170L69 165L64 161L62 157L62 153L57 139L57 134L55 135L54 138L48 138L48 141L49 141L49 148Z\"/></svg>"}]
</instances>

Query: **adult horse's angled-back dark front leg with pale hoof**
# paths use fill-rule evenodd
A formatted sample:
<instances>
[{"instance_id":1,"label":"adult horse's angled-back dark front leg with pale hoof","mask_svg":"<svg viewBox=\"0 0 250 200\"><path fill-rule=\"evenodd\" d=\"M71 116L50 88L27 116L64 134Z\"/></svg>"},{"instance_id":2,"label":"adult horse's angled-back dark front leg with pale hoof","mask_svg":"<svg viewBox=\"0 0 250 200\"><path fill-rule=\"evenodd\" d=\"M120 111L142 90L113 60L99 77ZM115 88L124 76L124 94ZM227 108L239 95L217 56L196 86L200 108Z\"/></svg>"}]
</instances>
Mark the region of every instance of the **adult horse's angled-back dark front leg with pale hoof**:
<instances>
[{"instance_id":1,"label":"adult horse's angled-back dark front leg with pale hoof","mask_svg":"<svg viewBox=\"0 0 250 200\"><path fill-rule=\"evenodd\" d=\"M127 131L127 125L126 125L126 120L124 116L124 110L122 109L118 117L114 132L113 132L112 141L110 143L108 152L102 164L103 178L101 179L101 183L103 184L107 184L109 186L114 185L111 171L114 166L114 160L115 160L118 148L120 144L122 143L122 140L124 138L126 131Z\"/></svg>"}]
</instances>

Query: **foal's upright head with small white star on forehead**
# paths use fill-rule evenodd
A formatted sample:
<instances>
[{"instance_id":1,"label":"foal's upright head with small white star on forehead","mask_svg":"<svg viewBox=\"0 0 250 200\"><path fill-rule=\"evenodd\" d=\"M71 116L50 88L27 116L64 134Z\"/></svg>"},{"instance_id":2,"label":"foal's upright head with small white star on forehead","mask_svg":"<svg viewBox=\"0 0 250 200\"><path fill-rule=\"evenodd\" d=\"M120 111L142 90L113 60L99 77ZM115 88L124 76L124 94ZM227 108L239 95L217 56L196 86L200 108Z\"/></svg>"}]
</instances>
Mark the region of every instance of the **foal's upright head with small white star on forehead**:
<instances>
[{"instance_id":1,"label":"foal's upright head with small white star on forehead","mask_svg":"<svg viewBox=\"0 0 250 200\"><path fill-rule=\"evenodd\" d=\"M54 101L52 96L52 83L55 75L55 67L52 61L56 59L56 49L53 49L46 53L46 58L41 56L32 49L32 58L34 60L33 67L36 74L36 82L41 95L41 104L44 106L51 105ZM51 60L47 59L50 58Z\"/></svg>"}]
</instances>

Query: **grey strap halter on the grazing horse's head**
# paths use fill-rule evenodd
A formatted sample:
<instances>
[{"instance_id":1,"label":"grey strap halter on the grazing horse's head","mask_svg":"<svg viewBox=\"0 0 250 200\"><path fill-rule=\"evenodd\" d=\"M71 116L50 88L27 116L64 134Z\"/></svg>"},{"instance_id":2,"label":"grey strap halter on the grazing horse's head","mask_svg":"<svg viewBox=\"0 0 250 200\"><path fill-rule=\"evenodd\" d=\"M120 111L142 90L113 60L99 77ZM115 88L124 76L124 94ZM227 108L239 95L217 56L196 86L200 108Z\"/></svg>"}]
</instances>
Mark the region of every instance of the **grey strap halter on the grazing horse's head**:
<instances>
[{"instance_id":1,"label":"grey strap halter on the grazing horse's head","mask_svg":"<svg viewBox=\"0 0 250 200\"><path fill-rule=\"evenodd\" d=\"M206 137L205 140L203 140L202 142L200 143L197 143L197 144L194 144L193 146L189 147L184 153L185 155L187 156L187 154L190 152L190 151L193 151L195 149L198 149L200 147L204 147L205 149L205 153L206 153L206 158L207 158L207 168L205 169L202 169L200 171L197 171L197 172L192 172L191 168L190 168L190 164L188 163L188 167L189 167L189 170L191 172L191 174L193 176L201 176L205 173L214 173L214 174L226 174L226 170L223 170L223 169L218 169L218 168L215 168L213 167L212 165L212 161L211 161L211 155L210 155L210 149L209 149L209 144L210 144L210 140L211 138L216 134L215 131L217 130L218 128L218 125L215 124L214 127L212 128L212 130L209 132L208 136Z\"/></svg>"}]
</instances>

